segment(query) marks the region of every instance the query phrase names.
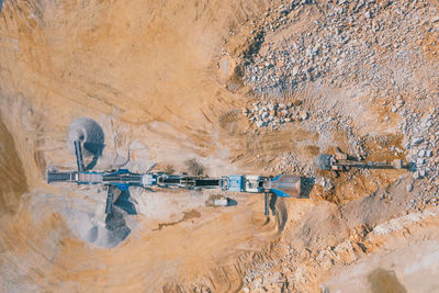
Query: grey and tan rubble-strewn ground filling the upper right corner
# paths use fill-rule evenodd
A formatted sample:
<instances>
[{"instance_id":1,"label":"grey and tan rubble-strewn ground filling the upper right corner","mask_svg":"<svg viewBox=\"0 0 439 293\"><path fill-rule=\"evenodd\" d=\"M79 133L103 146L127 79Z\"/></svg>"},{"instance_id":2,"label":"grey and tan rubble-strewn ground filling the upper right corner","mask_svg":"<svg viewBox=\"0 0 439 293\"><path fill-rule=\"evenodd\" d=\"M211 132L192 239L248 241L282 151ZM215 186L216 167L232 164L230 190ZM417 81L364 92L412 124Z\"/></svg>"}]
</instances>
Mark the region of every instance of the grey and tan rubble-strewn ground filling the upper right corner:
<instances>
[{"instance_id":1,"label":"grey and tan rubble-strewn ground filling the upper right corner","mask_svg":"<svg viewBox=\"0 0 439 293\"><path fill-rule=\"evenodd\" d=\"M361 122L356 125L361 116L331 94L317 92L354 88L352 102L362 95L362 109L380 109L373 122L380 124L378 132L403 135L402 145L390 146L387 153L410 161L414 179L426 179L421 184L427 184L427 193L437 193L439 93L434 86L438 80L434 40L439 18L435 5L292 1L268 9L254 26L256 45L243 56L241 65L251 97L262 98L243 110L256 128L278 129L309 120L306 128L333 135L342 131L351 142L351 154L367 157L364 142L371 133L361 133ZM427 81L423 74L428 75ZM315 168L305 173L315 176Z\"/></svg>"}]
</instances>

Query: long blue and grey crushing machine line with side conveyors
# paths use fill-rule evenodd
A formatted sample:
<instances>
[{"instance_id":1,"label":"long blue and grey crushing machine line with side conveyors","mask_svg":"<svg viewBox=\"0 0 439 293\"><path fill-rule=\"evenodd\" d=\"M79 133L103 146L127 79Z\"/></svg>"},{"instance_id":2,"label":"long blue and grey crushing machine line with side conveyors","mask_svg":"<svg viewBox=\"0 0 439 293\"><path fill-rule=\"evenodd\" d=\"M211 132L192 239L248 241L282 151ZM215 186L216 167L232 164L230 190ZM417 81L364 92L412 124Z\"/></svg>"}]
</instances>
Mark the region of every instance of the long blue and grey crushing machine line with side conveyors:
<instances>
[{"instance_id":1,"label":"long blue and grey crushing machine line with side conveyors","mask_svg":"<svg viewBox=\"0 0 439 293\"><path fill-rule=\"evenodd\" d=\"M52 168L47 171L47 183L71 182L76 184L101 184L108 189L105 213L110 214L115 202L115 190L127 190L131 187L144 189L218 189L229 192L248 192L264 194L264 214L269 215L270 196L299 198L301 194L301 177L292 174L278 174L275 177L250 176L250 174L229 174L218 178L207 178L200 176L170 174L167 172L153 172L153 166L145 173L133 173L128 169L117 169L111 171L90 171L86 168L82 158L82 150L89 149L90 132L97 133L99 126L94 121L85 120L89 127L81 131L69 132L74 154L76 156L77 170L59 172ZM98 125L98 126L97 126ZM100 127L100 126L99 126ZM99 133L99 132L98 132ZM71 148L70 148L71 149ZM225 205L224 200L214 201L215 205Z\"/></svg>"}]
</instances>

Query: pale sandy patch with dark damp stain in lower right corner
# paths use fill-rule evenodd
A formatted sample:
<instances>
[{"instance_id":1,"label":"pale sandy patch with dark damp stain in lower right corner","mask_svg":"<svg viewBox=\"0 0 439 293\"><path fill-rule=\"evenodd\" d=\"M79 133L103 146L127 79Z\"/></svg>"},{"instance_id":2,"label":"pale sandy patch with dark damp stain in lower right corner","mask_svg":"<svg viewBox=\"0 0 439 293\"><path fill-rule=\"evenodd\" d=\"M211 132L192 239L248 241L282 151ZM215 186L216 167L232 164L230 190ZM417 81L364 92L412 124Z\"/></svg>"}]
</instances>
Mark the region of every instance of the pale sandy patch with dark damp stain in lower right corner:
<instances>
[{"instance_id":1,"label":"pale sandy patch with dark damp stain in lower right corner","mask_svg":"<svg viewBox=\"0 0 439 293\"><path fill-rule=\"evenodd\" d=\"M436 292L437 225L438 209L379 225L368 240L376 244L380 239L382 248L353 266L336 268L325 282L326 289L329 292Z\"/></svg>"}]
</instances>

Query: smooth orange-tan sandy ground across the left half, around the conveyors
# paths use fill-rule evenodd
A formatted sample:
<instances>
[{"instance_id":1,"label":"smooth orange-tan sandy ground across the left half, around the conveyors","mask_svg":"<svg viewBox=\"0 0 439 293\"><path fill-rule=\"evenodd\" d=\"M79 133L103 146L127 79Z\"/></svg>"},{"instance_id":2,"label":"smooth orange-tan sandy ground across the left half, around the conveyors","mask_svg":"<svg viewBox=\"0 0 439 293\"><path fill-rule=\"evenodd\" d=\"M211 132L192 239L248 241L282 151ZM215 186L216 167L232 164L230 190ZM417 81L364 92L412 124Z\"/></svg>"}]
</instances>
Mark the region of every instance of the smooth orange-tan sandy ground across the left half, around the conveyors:
<instances>
[{"instance_id":1,"label":"smooth orange-tan sandy ground across the left half, around the conveyors","mask_svg":"<svg viewBox=\"0 0 439 293\"><path fill-rule=\"evenodd\" d=\"M268 224L261 217L261 199L238 195L236 207L212 210L204 207L209 194L134 189L137 215L123 215L115 228L127 237L114 239L105 228L104 191L48 187L44 173L47 166L75 168L67 127L80 116L94 119L105 133L98 170L125 160L130 148L134 171L154 161L183 170L190 158L212 176L245 171L229 166L218 126L239 99L218 86L228 70L212 64L229 22L261 7L4 3L1 209L11 211L1 222L5 291L157 292L202 277L221 291L240 286L240 262L251 261L244 256L279 233L274 217ZM243 261L230 260L236 255ZM223 272L222 266L230 268Z\"/></svg>"}]
</instances>

